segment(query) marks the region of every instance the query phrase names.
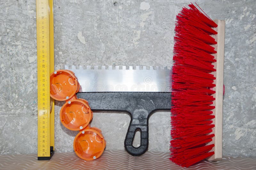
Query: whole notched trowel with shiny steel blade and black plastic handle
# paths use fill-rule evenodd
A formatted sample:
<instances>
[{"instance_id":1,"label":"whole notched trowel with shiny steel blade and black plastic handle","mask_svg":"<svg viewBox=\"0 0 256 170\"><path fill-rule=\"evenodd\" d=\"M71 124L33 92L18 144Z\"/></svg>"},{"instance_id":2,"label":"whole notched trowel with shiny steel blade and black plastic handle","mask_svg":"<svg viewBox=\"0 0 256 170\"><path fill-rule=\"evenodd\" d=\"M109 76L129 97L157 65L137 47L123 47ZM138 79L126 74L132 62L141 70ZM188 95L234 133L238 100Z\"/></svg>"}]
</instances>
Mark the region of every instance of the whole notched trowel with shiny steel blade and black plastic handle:
<instances>
[{"instance_id":1,"label":"whole notched trowel with shiny steel blade and black plastic handle","mask_svg":"<svg viewBox=\"0 0 256 170\"><path fill-rule=\"evenodd\" d=\"M139 156L148 149L148 118L157 110L171 109L171 69L150 66L65 66L81 85L78 98L86 99L92 111L120 111L131 115L124 140L128 153ZM132 146L140 129L140 146Z\"/></svg>"}]
</instances>

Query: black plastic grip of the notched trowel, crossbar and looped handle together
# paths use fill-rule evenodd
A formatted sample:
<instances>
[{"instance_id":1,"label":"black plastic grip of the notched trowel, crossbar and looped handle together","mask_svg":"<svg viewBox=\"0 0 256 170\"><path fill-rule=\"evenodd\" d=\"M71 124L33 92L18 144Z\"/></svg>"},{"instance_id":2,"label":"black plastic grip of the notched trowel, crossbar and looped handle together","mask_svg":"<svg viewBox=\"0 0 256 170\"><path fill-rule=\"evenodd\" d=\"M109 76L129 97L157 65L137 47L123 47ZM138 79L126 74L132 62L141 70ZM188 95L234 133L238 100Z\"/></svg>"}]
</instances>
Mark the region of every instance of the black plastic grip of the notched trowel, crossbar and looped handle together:
<instances>
[{"instance_id":1,"label":"black plastic grip of the notched trowel, crossbar and looped handle together","mask_svg":"<svg viewBox=\"0 0 256 170\"><path fill-rule=\"evenodd\" d=\"M131 122L125 137L124 147L128 153L139 156L148 149L148 118L157 110L171 109L170 92L88 92L77 93L86 99L92 111L120 111L131 114ZM132 146L137 129L140 129L140 146Z\"/></svg>"}]
</instances>

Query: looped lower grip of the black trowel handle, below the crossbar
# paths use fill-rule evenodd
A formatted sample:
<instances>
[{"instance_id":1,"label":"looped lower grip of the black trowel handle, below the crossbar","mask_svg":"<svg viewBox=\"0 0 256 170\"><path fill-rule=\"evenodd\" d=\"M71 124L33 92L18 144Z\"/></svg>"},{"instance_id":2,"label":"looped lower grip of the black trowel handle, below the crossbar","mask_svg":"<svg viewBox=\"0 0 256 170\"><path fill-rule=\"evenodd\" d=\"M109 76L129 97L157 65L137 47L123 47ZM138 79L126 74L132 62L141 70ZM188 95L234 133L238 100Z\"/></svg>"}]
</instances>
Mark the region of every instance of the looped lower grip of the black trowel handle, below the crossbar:
<instances>
[{"instance_id":1,"label":"looped lower grip of the black trowel handle, below the crossbar","mask_svg":"<svg viewBox=\"0 0 256 170\"><path fill-rule=\"evenodd\" d=\"M140 129L140 146L135 148L132 146L132 142L137 129ZM136 118L132 117L124 140L124 148L134 156L142 155L148 150L148 116L139 114Z\"/></svg>"}]
</instances>

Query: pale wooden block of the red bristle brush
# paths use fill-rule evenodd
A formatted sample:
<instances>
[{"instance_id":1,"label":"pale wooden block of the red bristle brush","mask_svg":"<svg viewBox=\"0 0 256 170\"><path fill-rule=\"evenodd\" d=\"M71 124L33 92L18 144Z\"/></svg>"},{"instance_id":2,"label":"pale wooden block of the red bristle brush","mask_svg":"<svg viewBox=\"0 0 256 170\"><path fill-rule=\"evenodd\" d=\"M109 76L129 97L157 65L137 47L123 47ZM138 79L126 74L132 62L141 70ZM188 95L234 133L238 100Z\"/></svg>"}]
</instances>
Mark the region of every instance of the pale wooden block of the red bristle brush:
<instances>
[{"instance_id":1,"label":"pale wooden block of the red bristle brush","mask_svg":"<svg viewBox=\"0 0 256 170\"><path fill-rule=\"evenodd\" d=\"M216 54L214 54L215 59L217 60L216 63L214 63L214 68L216 69L216 72L213 73L214 77L216 77L216 80L214 80L214 84L216 84L216 87L213 88L214 91L216 91L215 94L213 94L213 97L215 98L215 109L213 109L213 114L215 115L215 119L213 119L213 124L215 127L212 129L213 134L215 135L212 138L212 142L209 144L214 143L214 147L212 148L212 151L214 151L214 155L212 155L209 158L206 158L209 161L219 161L222 159L222 103L223 103L223 67L224 67L224 43L225 43L225 21L223 20L214 20L216 24L218 24L218 27L216 28L216 31L218 32L217 35L214 35L215 41L217 42L216 45L213 45L215 47L215 51L217 51Z\"/></svg>"}]
</instances>

